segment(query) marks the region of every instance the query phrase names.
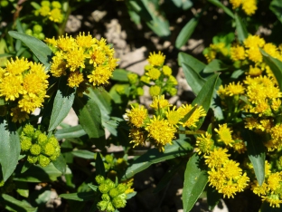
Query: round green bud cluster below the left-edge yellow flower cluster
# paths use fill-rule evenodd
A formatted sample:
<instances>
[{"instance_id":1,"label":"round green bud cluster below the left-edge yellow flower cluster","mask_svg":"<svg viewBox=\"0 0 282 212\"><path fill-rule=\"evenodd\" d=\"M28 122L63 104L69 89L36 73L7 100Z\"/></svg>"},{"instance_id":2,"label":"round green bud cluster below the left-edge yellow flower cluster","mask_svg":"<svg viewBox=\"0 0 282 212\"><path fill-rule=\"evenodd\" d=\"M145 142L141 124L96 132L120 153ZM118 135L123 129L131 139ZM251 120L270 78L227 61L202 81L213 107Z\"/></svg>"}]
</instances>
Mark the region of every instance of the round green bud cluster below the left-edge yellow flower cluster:
<instances>
[{"instance_id":1,"label":"round green bud cluster below the left-edge yellow flower cluster","mask_svg":"<svg viewBox=\"0 0 282 212\"><path fill-rule=\"evenodd\" d=\"M24 126L20 138L21 149L27 155L29 163L46 167L61 154L58 140L53 135L48 138L41 130L35 130L31 124Z\"/></svg>"}]
</instances>

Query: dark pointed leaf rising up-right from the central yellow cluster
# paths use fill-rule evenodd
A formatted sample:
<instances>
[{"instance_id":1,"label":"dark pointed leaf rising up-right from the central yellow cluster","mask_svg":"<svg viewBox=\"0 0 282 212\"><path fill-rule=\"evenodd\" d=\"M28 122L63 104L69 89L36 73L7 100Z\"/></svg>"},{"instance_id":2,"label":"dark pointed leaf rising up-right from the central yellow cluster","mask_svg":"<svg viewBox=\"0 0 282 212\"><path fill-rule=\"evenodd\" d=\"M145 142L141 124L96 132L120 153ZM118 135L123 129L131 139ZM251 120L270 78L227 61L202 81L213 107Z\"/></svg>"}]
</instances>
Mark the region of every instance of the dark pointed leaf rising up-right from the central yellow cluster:
<instances>
[{"instance_id":1,"label":"dark pointed leaf rising up-right from the central yellow cluster","mask_svg":"<svg viewBox=\"0 0 282 212\"><path fill-rule=\"evenodd\" d=\"M219 79L219 74L213 74L207 82L202 86L201 91L198 93L197 97L193 100L193 105L202 105L204 111L209 111L211 106L211 100L213 96L213 92L215 92L215 86L217 80Z\"/></svg>"}]
</instances>

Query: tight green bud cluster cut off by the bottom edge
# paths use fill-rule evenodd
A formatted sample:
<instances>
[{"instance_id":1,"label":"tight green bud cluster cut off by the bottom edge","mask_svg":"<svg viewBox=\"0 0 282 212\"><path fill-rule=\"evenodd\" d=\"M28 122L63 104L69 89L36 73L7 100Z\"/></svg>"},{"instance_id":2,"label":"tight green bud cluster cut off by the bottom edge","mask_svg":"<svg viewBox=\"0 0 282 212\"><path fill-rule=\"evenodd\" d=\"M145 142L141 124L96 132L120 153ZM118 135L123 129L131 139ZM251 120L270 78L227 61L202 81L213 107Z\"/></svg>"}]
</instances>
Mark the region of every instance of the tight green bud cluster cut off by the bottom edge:
<instances>
[{"instance_id":1,"label":"tight green bud cluster cut off by the bottom edge","mask_svg":"<svg viewBox=\"0 0 282 212\"><path fill-rule=\"evenodd\" d=\"M118 208L126 207L127 205L127 186L120 183L115 184L109 178L97 176L96 182L99 185L101 200L97 204L100 211L115 211Z\"/></svg>"}]
</instances>

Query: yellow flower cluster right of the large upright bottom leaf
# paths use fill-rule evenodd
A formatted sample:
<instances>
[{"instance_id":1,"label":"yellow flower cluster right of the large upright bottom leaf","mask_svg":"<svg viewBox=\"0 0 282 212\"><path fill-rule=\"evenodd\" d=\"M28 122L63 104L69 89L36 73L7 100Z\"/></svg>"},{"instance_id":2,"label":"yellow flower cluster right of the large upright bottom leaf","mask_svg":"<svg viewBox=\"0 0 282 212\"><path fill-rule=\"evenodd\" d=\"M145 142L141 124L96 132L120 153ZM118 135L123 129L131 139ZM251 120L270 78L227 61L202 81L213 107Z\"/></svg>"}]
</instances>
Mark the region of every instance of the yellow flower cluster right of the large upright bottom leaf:
<instances>
[{"instance_id":1,"label":"yellow flower cluster right of the large upright bottom leaf","mask_svg":"<svg viewBox=\"0 0 282 212\"><path fill-rule=\"evenodd\" d=\"M227 149L213 149L205 155L205 163L209 167L210 186L223 194L223 198L234 198L237 192L242 192L248 186L249 177L242 173L239 163L229 159Z\"/></svg>"}]
</instances>

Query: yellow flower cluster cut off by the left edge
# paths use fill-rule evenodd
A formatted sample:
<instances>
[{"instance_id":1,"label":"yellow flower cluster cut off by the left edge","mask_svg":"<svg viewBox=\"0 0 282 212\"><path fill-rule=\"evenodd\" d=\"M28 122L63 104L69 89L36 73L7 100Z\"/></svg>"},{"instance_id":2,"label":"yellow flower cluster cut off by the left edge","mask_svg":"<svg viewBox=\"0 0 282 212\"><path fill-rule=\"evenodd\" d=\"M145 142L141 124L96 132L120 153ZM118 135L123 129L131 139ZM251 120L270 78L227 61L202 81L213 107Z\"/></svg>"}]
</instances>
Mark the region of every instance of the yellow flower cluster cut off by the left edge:
<instances>
[{"instance_id":1,"label":"yellow flower cluster cut off by the left edge","mask_svg":"<svg viewBox=\"0 0 282 212\"><path fill-rule=\"evenodd\" d=\"M11 59L0 68L0 98L5 100L5 111L10 111L14 122L28 119L28 114L42 107L48 77L42 64L24 58Z\"/></svg>"}]
</instances>

